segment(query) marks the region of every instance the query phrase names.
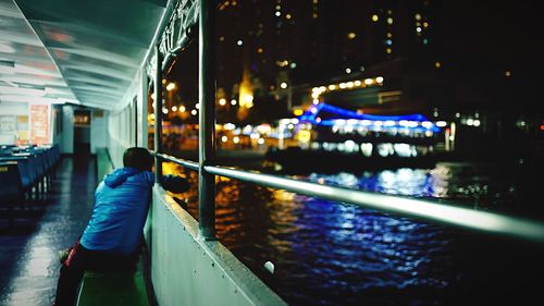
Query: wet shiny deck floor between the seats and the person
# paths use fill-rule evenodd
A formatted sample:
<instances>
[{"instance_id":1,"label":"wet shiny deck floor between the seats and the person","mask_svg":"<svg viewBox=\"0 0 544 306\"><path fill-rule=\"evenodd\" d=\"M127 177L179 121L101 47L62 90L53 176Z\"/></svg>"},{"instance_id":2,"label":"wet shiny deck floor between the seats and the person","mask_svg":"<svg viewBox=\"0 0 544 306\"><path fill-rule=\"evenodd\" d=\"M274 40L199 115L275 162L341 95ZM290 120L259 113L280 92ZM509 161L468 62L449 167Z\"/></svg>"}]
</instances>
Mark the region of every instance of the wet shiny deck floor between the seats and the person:
<instances>
[{"instance_id":1,"label":"wet shiny deck floor between the seats and the person","mask_svg":"<svg viewBox=\"0 0 544 306\"><path fill-rule=\"evenodd\" d=\"M71 246L85 228L97 185L96 161L65 157L47 198L34 204L38 216L0 221L0 305L50 306L60 262L58 252Z\"/></svg>"}]
</instances>

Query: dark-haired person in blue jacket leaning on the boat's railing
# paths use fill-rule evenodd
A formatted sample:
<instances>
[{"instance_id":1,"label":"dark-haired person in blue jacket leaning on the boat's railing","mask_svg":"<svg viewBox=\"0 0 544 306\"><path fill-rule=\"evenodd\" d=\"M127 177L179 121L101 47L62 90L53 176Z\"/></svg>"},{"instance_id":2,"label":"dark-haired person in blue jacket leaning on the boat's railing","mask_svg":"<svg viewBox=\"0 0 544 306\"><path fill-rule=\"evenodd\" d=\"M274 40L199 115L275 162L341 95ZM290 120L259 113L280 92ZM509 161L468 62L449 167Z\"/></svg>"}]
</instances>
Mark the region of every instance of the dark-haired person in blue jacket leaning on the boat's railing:
<instances>
[{"instance_id":1,"label":"dark-haired person in blue jacket leaning on the boat's railing","mask_svg":"<svg viewBox=\"0 0 544 306\"><path fill-rule=\"evenodd\" d=\"M148 149L128 148L123 155L124 167L106 175L98 185L85 231L61 258L53 305L74 305L85 270L135 270L154 182L152 164ZM174 175L163 175L161 183L173 193L189 188L186 180Z\"/></svg>"}]
</instances>

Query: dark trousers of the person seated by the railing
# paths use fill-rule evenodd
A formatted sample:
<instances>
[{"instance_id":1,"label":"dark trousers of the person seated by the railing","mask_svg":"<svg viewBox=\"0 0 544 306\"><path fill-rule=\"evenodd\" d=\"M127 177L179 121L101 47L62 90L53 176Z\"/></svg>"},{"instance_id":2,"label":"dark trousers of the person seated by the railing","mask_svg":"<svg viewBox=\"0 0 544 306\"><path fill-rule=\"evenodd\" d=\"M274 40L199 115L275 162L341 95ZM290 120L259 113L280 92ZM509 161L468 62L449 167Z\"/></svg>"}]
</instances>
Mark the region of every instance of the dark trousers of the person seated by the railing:
<instances>
[{"instance_id":1,"label":"dark trousers of the person seated by the railing","mask_svg":"<svg viewBox=\"0 0 544 306\"><path fill-rule=\"evenodd\" d=\"M129 256L108 252L90 250L78 242L62 262L54 306L73 306L85 271L126 272L135 271L139 249Z\"/></svg>"}]
</instances>

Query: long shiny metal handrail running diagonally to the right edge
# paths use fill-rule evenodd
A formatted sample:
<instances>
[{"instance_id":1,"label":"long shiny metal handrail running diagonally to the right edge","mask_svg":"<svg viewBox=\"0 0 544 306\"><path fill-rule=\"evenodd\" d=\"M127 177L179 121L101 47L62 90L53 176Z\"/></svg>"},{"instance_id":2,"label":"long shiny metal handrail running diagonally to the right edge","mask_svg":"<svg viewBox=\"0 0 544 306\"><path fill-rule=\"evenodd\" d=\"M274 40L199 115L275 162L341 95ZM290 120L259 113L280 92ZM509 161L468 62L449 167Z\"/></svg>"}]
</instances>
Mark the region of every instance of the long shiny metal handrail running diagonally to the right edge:
<instances>
[{"instance_id":1,"label":"long shiny metal handrail running diagonally to the right edge","mask_svg":"<svg viewBox=\"0 0 544 306\"><path fill-rule=\"evenodd\" d=\"M158 154L157 156L163 160L174 162L188 169L198 170L198 163L194 161L187 161L163 154ZM432 200L327 186L285 176L263 174L257 171L238 170L221 166L205 166L203 169L211 174L272 188L285 189L311 197L354 204L380 211L399 213L429 221L438 221L459 228L544 243L544 223L519 217L479 211L449 204L434 203Z\"/></svg>"}]
</instances>

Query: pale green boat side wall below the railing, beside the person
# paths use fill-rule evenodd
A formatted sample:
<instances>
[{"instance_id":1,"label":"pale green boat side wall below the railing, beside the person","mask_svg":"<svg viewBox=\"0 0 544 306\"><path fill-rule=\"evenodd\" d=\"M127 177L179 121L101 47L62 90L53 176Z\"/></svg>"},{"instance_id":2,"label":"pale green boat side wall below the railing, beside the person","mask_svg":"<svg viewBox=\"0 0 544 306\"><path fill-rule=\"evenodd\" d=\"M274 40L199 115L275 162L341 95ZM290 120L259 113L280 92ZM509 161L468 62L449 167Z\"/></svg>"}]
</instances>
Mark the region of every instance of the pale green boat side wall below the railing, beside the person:
<instances>
[{"instance_id":1,"label":"pale green boat side wall below the railing, beside the person","mask_svg":"<svg viewBox=\"0 0 544 306\"><path fill-rule=\"evenodd\" d=\"M197 221L158 185L151 209L146 241L158 305L286 305L219 241L200 238Z\"/></svg>"}]
</instances>

